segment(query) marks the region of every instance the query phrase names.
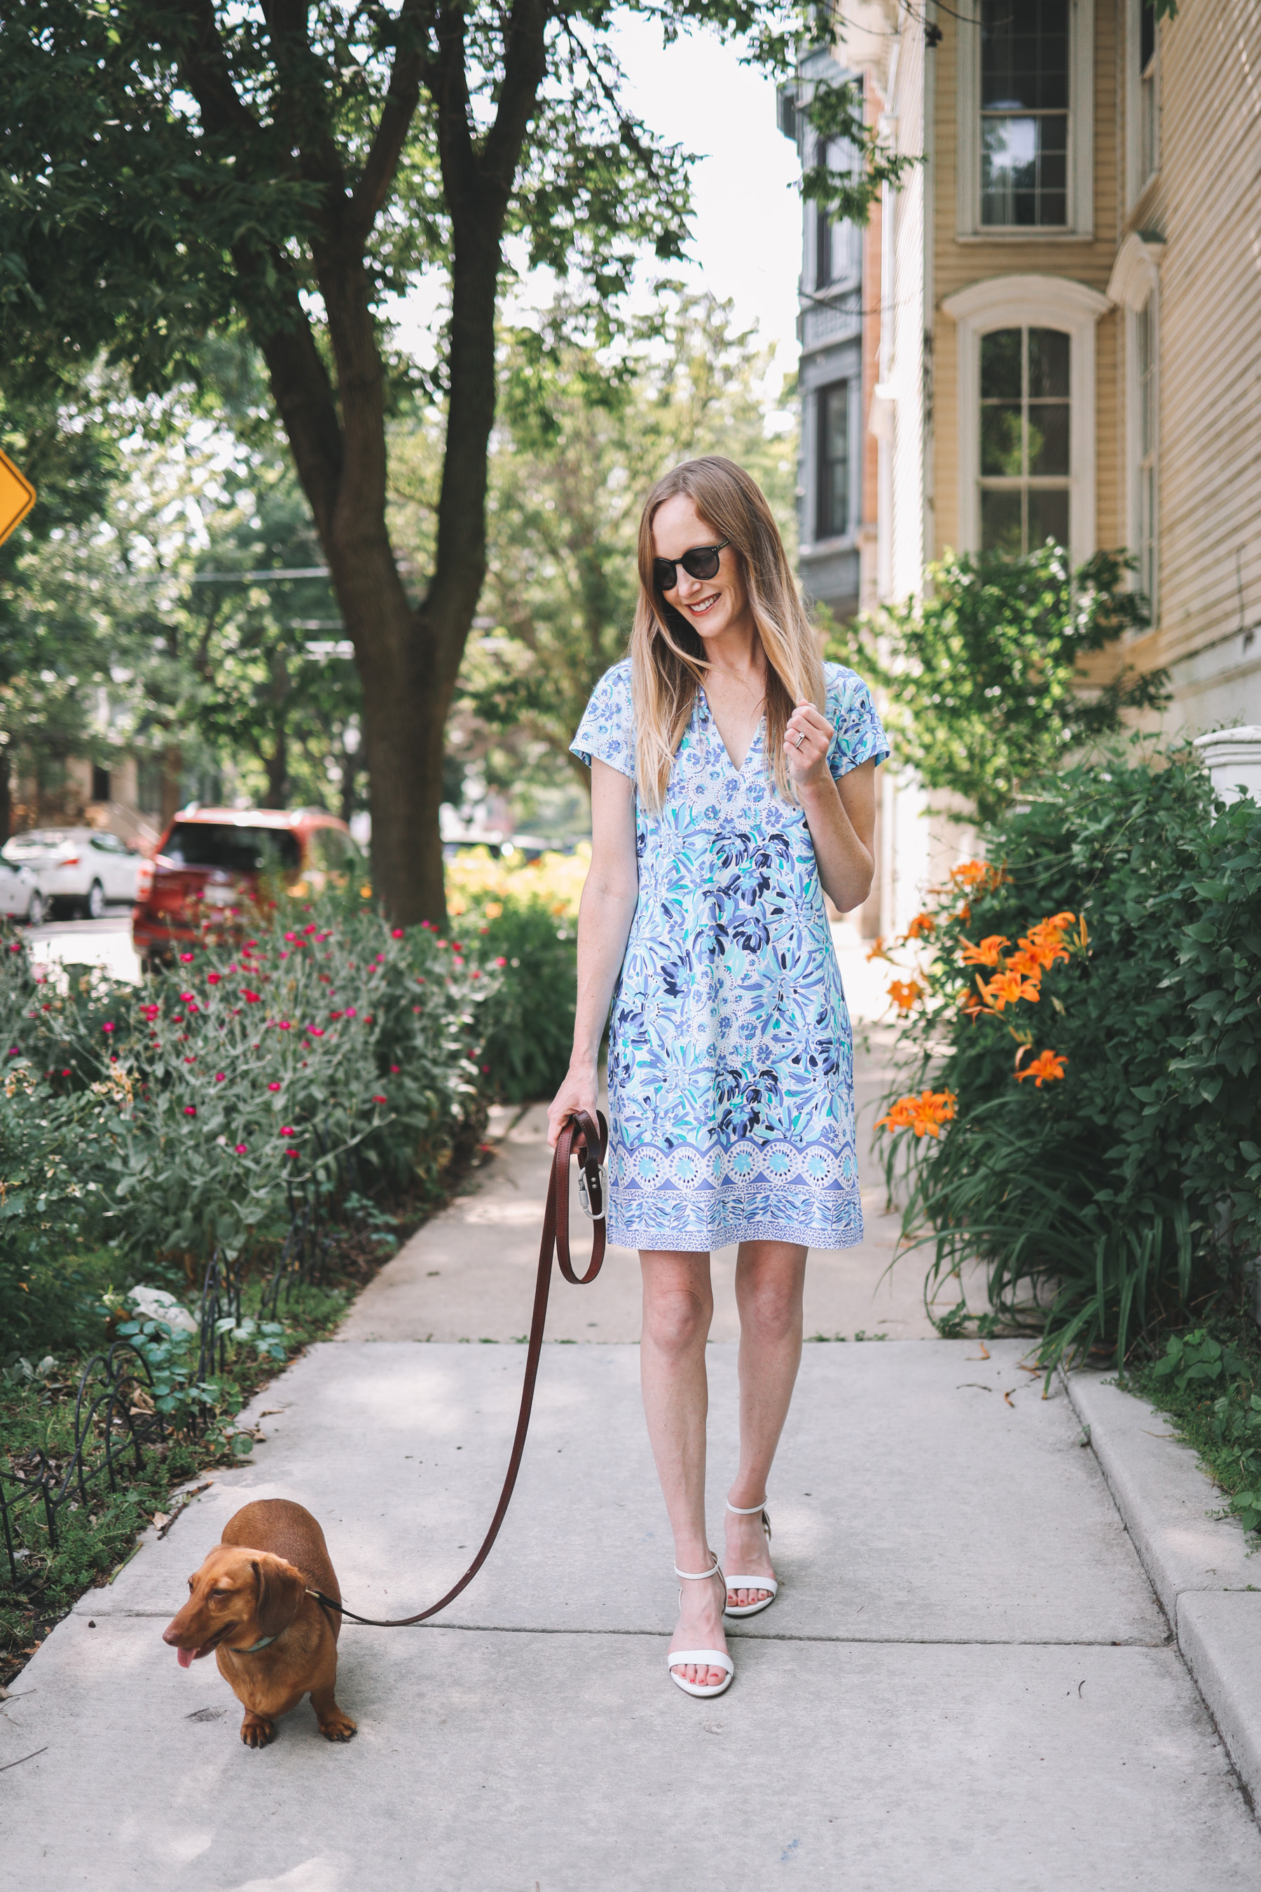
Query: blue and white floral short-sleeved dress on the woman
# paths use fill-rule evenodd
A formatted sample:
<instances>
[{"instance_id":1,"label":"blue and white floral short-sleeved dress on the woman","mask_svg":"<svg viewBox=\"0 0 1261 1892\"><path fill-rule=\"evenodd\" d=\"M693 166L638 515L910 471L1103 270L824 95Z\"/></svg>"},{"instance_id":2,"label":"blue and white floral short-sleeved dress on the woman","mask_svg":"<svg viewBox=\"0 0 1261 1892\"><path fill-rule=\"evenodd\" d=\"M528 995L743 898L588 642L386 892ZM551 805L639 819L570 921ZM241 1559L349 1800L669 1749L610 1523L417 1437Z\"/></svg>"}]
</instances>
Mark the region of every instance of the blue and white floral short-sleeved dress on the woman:
<instances>
[{"instance_id":1,"label":"blue and white floral short-sleeved dress on the woman","mask_svg":"<svg viewBox=\"0 0 1261 1892\"><path fill-rule=\"evenodd\" d=\"M834 778L885 761L866 683L824 664ZM660 814L635 802L639 902L609 1022L609 1239L862 1241L849 1010L803 812L762 727L735 768L698 691ZM571 744L635 776L630 662Z\"/></svg>"}]
</instances>

